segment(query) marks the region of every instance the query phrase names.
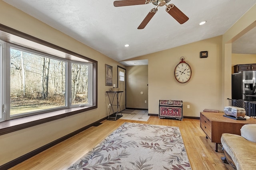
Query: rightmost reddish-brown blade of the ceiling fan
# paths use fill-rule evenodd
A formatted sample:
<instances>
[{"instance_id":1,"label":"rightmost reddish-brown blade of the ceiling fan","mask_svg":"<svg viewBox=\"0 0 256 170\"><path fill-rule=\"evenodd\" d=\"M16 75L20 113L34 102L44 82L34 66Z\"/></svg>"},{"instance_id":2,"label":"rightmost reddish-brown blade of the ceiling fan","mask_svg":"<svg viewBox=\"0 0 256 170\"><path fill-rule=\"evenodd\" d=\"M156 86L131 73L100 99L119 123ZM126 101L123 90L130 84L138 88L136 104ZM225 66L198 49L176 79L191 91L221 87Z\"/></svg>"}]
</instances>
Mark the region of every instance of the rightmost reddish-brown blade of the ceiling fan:
<instances>
[{"instance_id":1,"label":"rightmost reddish-brown blade of the ceiling fan","mask_svg":"<svg viewBox=\"0 0 256 170\"><path fill-rule=\"evenodd\" d=\"M176 21L180 24L188 21L188 17L177 8L174 4L170 4L166 7L166 12L168 12Z\"/></svg>"}]
</instances>

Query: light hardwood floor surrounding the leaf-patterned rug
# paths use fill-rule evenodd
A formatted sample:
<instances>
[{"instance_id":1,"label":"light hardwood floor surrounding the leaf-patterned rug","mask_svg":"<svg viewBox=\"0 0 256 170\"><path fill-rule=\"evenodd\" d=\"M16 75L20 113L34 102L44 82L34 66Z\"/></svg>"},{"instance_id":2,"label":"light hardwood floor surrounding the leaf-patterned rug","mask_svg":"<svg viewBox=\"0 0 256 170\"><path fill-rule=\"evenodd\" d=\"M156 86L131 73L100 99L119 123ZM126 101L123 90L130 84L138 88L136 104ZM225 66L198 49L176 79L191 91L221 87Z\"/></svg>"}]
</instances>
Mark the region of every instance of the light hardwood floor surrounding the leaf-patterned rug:
<instances>
[{"instance_id":1,"label":"light hardwood floor surrounding the leaf-patterned rug","mask_svg":"<svg viewBox=\"0 0 256 170\"><path fill-rule=\"evenodd\" d=\"M221 146L219 145L218 152L215 152L215 143L211 143L209 139L206 139L204 132L200 129L200 120L183 119L183 121L180 121L159 119L157 116L150 116L147 122L124 119L116 121L104 120L98 127L90 127L12 167L10 170L66 169L124 122L180 127L192 170L232 170L230 165L224 164L220 160L220 157L224 155L221 151Z\"/></svg>"}]
</instances>

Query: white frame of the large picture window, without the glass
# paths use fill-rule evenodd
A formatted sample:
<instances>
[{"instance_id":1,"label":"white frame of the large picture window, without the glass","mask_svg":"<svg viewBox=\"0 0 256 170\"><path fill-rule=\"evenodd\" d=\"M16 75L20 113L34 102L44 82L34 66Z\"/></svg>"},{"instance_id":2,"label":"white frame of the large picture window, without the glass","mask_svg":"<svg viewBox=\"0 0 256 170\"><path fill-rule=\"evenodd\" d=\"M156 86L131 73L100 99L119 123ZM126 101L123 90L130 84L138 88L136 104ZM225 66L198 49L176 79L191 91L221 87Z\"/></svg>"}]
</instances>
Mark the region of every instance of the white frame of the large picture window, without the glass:
<instances>
[{"instance_id":1,"label":"white frame of the large picture window, without the glass","mask_svg":"<svg viewBox=\"0 0 256 170\"><path fill-rule=\"evenodd\" d=\"M2 43L4 44L4 46L2 46ZM67 109L67 108L71 108L71 107L82 107L82 106L92 106L93 105L93 65L92 63L88 63L86 62L87 60L85 60L85 62L79 62L79 61L70 61L67 59L63 59L61 57L56 57L47 53L42 53L39 51L35 51L32 49L28 49L26 47L22 47L19 45L14 45L14 44L10 44L10 43L5 43L4 41L0 41L1 46L2 47L6 47L5 50L2 50L3 53L5 53L5 55L3 55L4 57L2 57L2 63L0 63L2 67L2 82L5 83L1 83L2 85L2 92L5 92L5 94L2 94L2 101L1 102L1 107L3 107L2 104L4 104L6 106L6 112L3 113L3 110L1 108L1 114L2 114L2 118L0 119L0 121L5 121L5 120L10 120L10 119L16 119L16 118L20 118L20 117L26 117L26 116L30 116L30 115L38 115L41 113L48 113L48 112L52 112L52 111L57 111L57 110L61 110L61 109ZM53 109L44 109L41 111L36 111L36 112L28 112L28 113L23 113L23 114L18 114L18 115L10 115L10 48L15 48L15 49L20 49L22 51L28 51L28 53L34 53L36 55L41 55L43 57L48 57L51 59L55 59L55 60L60 60L60 61L64 61L66 62L66 104L65 106L62 107L55 107ZM89 81L89 88L88 88L88 104L84 104L84 105L71 105L71 65L72 63L78 63L78 64L86 64L89 66L89 77L88 77L88 81ZM5 66L5 68L4 68ZM0 72L0 76L1 76L1 72ZM69 77L69 78L68 78ZM0 85L0 87L1 87Z\"/></svg>"}]
</instances>

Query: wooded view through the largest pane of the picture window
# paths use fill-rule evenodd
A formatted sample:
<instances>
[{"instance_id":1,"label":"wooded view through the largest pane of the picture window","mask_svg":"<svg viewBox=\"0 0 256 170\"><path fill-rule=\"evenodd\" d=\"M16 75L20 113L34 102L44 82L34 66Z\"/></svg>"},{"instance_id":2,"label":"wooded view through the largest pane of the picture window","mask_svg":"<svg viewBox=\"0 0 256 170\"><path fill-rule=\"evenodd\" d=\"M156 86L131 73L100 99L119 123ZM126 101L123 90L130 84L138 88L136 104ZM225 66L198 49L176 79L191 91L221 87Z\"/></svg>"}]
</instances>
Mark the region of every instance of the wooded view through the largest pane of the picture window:
<instances>
[{"instance_id":1,"label":"wooded view through the largest pane of the picture window","mask_svg":"<svg viewBox=\"0 0 256 170\"><path fill-rule=\"evenodd\" d=\"M10 115L66 105L66 62L10 49Z\"/></svg>"}]
</instances>

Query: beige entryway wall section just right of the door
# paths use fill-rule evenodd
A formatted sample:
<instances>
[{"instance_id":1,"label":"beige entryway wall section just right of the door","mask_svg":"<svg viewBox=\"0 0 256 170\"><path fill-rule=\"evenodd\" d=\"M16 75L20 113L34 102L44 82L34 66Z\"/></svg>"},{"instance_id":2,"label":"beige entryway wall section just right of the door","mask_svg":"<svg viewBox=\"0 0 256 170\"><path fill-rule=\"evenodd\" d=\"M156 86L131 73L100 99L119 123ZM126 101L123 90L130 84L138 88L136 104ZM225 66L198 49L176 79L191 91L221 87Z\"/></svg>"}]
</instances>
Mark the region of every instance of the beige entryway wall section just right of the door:
<instances>
[{"instance_id":1,"label":"beige entryway wall section just right of the door","mask_svg":"<svg viewBox=\"0 0 256 170\"><path fill-rule=\"evenodd\" d=\"M126 67L126 107L148 109L148 65Z\"/></svg>"}]
</instances>

